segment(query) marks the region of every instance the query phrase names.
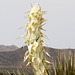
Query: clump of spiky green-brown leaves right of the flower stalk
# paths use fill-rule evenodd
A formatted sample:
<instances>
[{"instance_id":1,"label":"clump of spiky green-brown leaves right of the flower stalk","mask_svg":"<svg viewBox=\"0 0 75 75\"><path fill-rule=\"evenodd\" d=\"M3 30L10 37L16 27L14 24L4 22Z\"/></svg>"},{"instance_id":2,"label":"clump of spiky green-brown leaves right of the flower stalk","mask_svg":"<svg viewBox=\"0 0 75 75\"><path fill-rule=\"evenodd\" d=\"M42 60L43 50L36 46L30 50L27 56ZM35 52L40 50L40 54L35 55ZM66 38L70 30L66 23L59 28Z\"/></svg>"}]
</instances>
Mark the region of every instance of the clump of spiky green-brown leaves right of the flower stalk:
<instances>
[{"instance_id":1,"label":"clump of spiky green-brown leaves right of the flower stalk","mask_svg":"<svg viewBox=\"0 0 75 75\"><path fill-rule=\"evenodd\" d=\"M56 57L55 66L51 67L50 75L75 75L75 53L70 54L68 61L64 54L61 61Z\"/></svg>"}]
</instances>

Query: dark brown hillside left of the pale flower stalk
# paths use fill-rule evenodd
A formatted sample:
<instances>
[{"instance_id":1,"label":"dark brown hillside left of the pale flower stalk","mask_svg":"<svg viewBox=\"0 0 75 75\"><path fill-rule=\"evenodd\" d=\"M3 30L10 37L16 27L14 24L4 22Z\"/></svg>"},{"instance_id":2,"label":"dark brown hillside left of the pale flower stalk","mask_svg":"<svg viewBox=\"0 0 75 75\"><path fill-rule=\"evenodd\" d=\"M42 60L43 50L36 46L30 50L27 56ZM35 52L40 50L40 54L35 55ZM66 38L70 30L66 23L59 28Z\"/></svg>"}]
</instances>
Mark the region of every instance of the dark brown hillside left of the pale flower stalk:
<instances>
[{"instance_id":1,"label":"dark brown hillside left of the pale flower stalk","mask_svg":"<svg viewBox=\"0 0 75 75\"><path fill-rule=\"evenodd\" d=\"M0 52L0 65L2 66L20 66L23 62L24 52L27 50L18 48L17 50Z\"/></svg>"}]
</instances>

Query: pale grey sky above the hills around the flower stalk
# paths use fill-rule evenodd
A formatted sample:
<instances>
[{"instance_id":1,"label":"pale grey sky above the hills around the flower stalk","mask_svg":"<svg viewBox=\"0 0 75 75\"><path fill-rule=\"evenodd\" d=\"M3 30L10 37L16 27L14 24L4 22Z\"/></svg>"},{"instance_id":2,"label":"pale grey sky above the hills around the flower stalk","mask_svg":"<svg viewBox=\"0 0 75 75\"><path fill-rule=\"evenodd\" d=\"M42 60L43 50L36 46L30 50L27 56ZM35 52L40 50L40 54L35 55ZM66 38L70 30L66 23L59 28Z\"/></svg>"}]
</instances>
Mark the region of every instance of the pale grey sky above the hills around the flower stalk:
<instances>
[{"instance_id":1,"label":"pale grey sky above the hills around the flower stalk","mask_svg":"<svg viewBox=\"0 0 75 75\"><path fill-rule=\"evenodd\" d=\"M48 47L75 48L75 0L0 0L0 45L23 45L24 39L17 38L25 31L18 28L28 22L25 12L31 9L30 3L47 11L43 33Z\"/></svg>"}]
</instances>

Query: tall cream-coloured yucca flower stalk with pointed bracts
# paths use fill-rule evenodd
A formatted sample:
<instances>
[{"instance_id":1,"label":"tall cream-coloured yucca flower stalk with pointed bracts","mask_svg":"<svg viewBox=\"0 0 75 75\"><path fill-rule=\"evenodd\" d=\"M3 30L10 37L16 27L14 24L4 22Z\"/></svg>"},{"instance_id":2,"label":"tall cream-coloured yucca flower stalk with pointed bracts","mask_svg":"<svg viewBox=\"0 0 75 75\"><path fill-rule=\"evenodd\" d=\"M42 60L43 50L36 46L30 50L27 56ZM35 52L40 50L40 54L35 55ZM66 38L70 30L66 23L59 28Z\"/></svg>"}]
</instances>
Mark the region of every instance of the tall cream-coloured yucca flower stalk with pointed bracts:
<instances>
[{"instance_id":1,"label":"tall cream-coloured yucca flower stalk with pointed bracts","mask_svg":"<svg viewBox=\"0 0 75 75\"><path fill-rule=\"evenodd\" d=\"M28 13L29 23L25 25L26 35L23 36L26 39L24 43L28 46L28 51L25 52L24 62L28 59L26 66L31 64L35 75L48 75L47 63L50 62L46 60L43 54L50 55L44 50L43 44L45 43L41 39L42 37L46 37L41 32L41 30L44 30L42 26L45 21L42 15L46 11L41 11L40 5L35 4Z\"/></svg>"}]
</instances>

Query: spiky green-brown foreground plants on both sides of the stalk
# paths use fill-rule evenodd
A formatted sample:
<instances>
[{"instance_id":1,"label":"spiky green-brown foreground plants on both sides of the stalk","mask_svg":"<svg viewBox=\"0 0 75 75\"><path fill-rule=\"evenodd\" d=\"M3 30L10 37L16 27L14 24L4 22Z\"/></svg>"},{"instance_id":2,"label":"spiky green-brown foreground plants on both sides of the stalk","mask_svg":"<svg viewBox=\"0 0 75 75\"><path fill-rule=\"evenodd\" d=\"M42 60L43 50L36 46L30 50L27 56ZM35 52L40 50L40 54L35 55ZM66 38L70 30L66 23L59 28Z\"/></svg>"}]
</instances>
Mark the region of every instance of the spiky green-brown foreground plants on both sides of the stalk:
<instances>
[{"instance_id":1,"label":"spiky green-brown foreground plants on both sides of the stalk","mask_svg":"<svg viewBox=\"0 0 75 75\"><path fill-rule=\"evenodd\" d=\"M48 75L75 75L75 52L70 53L68 58L65 57L65 54L62 51L61 59L56 57L54 65L50 65L47 69ZM33 72L27 73L24 71L24 68L17 68L16 72L0 72L0 75L34 75Z\"/></svg>"}]
</instances>

